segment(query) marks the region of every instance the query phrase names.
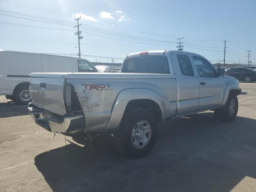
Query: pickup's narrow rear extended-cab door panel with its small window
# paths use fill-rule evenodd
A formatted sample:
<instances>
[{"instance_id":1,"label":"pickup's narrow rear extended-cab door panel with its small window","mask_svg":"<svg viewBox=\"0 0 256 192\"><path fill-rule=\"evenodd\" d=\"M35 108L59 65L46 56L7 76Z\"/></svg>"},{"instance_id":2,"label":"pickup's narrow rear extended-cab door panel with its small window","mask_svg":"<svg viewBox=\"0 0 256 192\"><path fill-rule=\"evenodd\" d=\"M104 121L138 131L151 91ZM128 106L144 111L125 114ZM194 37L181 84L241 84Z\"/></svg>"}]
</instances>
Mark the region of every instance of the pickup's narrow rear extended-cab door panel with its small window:
<instances>
[{"instance_id":1,"label":"pickup's narrow rear extended-cab door panel with its small window","mask_svg":"<svg viewBox=\"0 0 256 192\"><path fill-rule=\"evenodd\" d=\"M176 116L197 112L199 82L190 57L183 53L172 53L171 58L177 81Z\"/></svg>"}]
</instances>

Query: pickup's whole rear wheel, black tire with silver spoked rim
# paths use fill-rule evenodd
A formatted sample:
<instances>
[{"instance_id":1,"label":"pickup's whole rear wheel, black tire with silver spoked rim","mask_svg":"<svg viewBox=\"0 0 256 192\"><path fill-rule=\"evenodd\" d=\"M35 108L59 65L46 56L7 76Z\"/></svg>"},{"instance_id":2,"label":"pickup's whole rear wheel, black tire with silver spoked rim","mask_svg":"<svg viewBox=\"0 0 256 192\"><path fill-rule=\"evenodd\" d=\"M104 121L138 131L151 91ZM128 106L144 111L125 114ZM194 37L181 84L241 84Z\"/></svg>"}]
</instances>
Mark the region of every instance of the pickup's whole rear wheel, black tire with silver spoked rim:
<instances>
[{"instance_id":1,"label":"pickup's whole rear wheel, black tire with silver spoked rim","mask_svg":"<svg viewBox=\"0 0 256 192\"><path fill-rule=\"evenodd\" d=\"M157 134L158 127L153 114L145 109L132 108L125 112L114 139L122 154L140 158L152 150Z\"/></svg>"}]
</instances>

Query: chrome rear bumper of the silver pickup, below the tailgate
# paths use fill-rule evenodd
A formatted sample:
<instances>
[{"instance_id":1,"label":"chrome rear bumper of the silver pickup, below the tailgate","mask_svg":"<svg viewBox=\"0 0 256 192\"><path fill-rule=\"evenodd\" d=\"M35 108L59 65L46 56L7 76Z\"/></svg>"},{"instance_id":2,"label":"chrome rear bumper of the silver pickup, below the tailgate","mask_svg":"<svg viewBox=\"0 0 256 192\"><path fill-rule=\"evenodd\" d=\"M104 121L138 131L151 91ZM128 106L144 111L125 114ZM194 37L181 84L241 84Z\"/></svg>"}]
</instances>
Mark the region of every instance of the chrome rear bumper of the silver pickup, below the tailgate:
<instances>
[{"instance_id":1,"label":"chrome rear bumper of the silver pickup, below the tailgate","mask_svg":"<svg viewBox=\"0 0 256 192\"><path fill-rule=\"evenodd\" d=\"M28 111L35 123L48 131L64 135L84 133L85 120L82 111L60 116L33 106L32 103L28 104Z\"/></svg>"}]
</instances>

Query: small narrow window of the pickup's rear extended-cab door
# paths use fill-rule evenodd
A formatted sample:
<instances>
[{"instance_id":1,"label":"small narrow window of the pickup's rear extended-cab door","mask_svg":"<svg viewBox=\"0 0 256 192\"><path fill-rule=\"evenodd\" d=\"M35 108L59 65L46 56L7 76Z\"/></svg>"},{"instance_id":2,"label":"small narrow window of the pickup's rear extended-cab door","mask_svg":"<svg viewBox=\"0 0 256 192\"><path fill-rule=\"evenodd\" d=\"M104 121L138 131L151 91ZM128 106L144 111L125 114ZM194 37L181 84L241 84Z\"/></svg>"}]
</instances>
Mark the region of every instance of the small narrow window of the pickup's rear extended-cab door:
<instances>
[{"instance_id":1,"label":"small narrow window of the pickup's rear extended-cab door","mask_svg":"<svg viewBox=\"0 0 256 192\"><path fill-rule=\"evenodd\" d=\"M183 75L194 76L194 70L188 55L178 54L177 58L180 65L180 72Z\"/></svg>"}]
</instances>

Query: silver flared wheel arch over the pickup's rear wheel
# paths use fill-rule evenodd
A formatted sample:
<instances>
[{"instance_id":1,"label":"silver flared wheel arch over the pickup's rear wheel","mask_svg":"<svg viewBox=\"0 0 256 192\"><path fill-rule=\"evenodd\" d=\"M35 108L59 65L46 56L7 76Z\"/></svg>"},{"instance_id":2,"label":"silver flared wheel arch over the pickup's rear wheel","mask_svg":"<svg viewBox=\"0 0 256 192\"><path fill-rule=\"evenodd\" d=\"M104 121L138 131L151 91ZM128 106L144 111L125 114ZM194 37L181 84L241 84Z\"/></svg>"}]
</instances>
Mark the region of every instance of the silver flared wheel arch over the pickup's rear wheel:
<instances>
[{"instance_id":1,"label":"silver flared wheel arch over the pickup's rear wheel","mask_svg":"<svg viewBox=\"0 0 256 192\"><path fill-rule=\"evenodd\" d=\"M164 100L157 92L145 88L125 89L119 92L116 97L105 131L114 132L118 128L125 111L132 107L149 110L158 122L166 117Z\"/></svg>"}]
</instances>

